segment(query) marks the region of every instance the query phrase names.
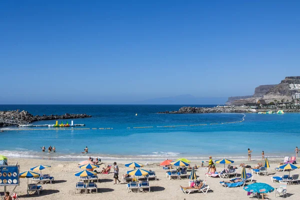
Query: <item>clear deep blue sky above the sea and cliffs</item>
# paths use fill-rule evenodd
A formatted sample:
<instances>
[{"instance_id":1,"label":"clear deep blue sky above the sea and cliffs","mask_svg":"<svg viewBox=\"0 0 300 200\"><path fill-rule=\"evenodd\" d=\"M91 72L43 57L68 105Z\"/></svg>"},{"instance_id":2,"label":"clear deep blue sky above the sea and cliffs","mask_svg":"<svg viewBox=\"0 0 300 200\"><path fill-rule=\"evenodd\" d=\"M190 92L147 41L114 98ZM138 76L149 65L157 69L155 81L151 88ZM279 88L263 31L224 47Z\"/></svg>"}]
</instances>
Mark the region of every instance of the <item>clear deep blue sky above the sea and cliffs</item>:
<instances>
[{"instance_id":1,"label":"clear deep blue sky above the sea and cliffs","mask_svg":"<svg viewBox=\"0 0 300 200\"><path fill-rule=\"evenodd\" d=\"M253 94L300 75L300 1L0 4L1 103Z\"/></svg>"}]
</instances>

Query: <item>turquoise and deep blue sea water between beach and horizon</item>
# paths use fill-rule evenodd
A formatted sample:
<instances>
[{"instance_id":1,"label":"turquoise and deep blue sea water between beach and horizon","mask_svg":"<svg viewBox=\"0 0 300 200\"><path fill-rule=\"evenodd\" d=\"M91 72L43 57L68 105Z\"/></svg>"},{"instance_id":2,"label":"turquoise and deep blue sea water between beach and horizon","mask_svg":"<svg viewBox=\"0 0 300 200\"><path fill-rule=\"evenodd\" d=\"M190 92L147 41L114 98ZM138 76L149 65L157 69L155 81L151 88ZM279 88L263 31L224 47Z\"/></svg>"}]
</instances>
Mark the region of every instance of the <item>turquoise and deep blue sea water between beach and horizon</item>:
<instances>
[{"instance_id":1,"label":"turquoise and deep blue sea water between beach and horizon","mask_svg":"<svg viewBox=\"0 0 300 200\"><path fill-rule=\"evenodd\" d=\"M145 159L188 157L246 157L293 155L299 144L300 114L240 113L158 114L177 110L182 105L0 105L0 110L25 109L32 114L87 113L91 118L74 119L85 128L62 130L9 130L0 133L0 154L15 157L74 158L89 154L111 159ZM211 105L210 105L211 106ZM137 116L135 116L137 113ZM70 122L70 119L68 120ZM59 120L60 122L60 120ZM66 120L64 120L64 123ZM37 121L33 124L53 124ZM190 126L191 124L208 124ZM187 125L160 127L168 125ZM133 128L153 126L151 128ZM159 126L159 127L157 127ZM105 128L113 129L91 129ZM130 128L128 128L130 127ZM12 127L10 127L12 128ZM13 127L15 128L15 127ZM30 127L31 128L31 127ZM40 147L54 145L56 153L42 153Z\"/></svg>"}]
</instances>

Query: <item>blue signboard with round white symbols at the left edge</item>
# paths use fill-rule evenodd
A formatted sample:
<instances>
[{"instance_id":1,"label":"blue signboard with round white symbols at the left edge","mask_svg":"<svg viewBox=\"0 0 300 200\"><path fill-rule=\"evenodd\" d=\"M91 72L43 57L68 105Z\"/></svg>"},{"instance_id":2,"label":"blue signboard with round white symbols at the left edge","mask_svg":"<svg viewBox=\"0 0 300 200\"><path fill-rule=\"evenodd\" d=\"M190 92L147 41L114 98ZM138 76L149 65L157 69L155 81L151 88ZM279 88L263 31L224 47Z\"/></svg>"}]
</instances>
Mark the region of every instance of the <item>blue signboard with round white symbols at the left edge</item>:
<instances>
[{"instance_id":1,"label":"blue signboard with round white symbols at the left edge","mask_svg":"<svg viewBox=\"0 0 300 200\"><path fill-rule=\"evenodd\" d=\"M0 186L19 185L18 174L18 165L0 165Z\"/></svg>"}]
</instances>

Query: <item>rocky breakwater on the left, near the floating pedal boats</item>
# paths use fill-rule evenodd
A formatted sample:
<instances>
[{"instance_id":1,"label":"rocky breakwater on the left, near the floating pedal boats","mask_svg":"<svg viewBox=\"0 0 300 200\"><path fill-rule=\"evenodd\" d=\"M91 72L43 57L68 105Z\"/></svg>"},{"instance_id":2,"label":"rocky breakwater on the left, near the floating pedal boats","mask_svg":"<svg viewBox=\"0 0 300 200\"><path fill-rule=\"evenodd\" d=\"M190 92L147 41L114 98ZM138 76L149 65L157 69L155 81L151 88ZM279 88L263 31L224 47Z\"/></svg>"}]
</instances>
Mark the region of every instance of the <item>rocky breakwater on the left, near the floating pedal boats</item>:
<instances>
[{"instance_id":1,"label":"rocky breakwater on the left, near the floating pedal boats","mask_svg":"<svg viewBox=\"0 0 300 200\"><path fill-rule=\"evenodd\" d=\"M42 116L39 115L32 115L29 112L22 110L22 111L0 111L0 119L14 119L14 120L20 120L20 121L27 121L27 122L33 122L33 121L40 121L40 120L55 120L55 119L70 119L70 118L86 118L91 117L91 115L88 114L69 114L65 113L62 115L45 115ZM0 126L8 126L11 124L8 123L2 123L0 122Z\"/></svg>"}]
</instances>

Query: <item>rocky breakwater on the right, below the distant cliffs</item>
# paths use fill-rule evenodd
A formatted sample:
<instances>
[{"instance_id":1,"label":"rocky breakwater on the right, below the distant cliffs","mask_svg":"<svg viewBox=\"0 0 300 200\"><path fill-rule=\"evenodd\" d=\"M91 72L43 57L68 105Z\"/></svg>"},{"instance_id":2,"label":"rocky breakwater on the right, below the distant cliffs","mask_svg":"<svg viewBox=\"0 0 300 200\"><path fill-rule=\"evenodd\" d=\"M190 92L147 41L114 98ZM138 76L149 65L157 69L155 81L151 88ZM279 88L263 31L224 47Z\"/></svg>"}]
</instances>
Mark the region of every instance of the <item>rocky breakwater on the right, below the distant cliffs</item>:
<instances>
[{"instance_id":1,"label":"rocky breakwater on the right, below the distant cliffs","mask_svg":"<svg viewBox=\"0 0 300 200\"><path fill-rule=\"evenodd\" d=\"M248 112L249 108L236 108L234 106L215 107L180 107L178 111L162 111L158 113L182 114L182 113L211 113L211 112Z\"/></svg>"}]
</instances>

